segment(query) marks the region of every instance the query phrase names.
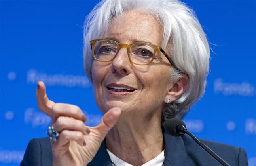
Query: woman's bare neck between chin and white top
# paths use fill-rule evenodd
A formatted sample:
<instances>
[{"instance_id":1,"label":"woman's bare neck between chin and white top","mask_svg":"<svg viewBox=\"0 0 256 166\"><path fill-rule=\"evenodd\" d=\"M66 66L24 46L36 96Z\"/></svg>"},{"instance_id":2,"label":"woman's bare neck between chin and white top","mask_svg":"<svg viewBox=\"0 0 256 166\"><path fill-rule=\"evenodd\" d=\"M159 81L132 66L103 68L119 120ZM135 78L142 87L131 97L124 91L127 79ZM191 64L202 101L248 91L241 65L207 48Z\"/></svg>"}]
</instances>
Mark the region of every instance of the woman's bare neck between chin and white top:
<instances>
[{"instance_id":1,"label":"woman's bare neck between chin and white top","mask_svg":"<svg viewBox=\"0 0 256 166\"><path fill-rule=\"evenodd\" d=\"M164 149L161 117L142 122L131 114L121 116L106 136L106 145L117 157L135 166L154 159Z\"/></svg>"}]
</instances>

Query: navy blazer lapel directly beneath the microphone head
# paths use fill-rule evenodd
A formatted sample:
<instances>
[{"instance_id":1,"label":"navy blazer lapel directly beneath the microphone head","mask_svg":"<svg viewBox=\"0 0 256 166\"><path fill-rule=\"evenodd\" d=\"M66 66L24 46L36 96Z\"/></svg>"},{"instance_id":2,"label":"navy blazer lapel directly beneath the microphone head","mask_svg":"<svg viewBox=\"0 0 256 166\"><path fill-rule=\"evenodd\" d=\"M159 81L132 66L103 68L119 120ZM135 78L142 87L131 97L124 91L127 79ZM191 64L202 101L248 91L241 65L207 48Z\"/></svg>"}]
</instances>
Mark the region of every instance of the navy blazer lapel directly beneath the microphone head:
<instances>
[{"instance_id":1,"label":"navy blazer lapel directly beneath the microphone head","mask_svg":"<svg viewBox=\"0 0 256 166\"><path fill-rule=\"evenodd\" d=\"M163 131L165 142L164 166L189 166L188 155L181 137L174 137Z\"/></svg>"}]
</instances>

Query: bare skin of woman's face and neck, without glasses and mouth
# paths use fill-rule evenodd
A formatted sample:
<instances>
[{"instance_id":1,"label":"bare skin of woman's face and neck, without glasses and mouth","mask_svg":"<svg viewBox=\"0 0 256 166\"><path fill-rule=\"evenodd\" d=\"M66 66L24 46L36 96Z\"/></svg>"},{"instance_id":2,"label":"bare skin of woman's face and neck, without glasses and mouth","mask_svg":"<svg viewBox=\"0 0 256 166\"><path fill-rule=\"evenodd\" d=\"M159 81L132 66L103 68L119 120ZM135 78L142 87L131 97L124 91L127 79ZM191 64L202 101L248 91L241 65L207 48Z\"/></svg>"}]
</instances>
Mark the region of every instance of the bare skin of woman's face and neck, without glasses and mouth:
<instances>
[{"instance_id":1,"label":"bare skin of woman's face and neck, without glasses and mouth","mask_svg":"<svg viewBox=\"0 0 256 166\"><path fill-rule=\"evenodd\" d=\"M112 27L117 28L110 27L103 39L116 38L122 44L150 41L161 45L162 26L155 17L129 11L122 18L124 20L118 25L116 18L112 19ZM144 164L164 149L161 116L173 84L167 77L171 76L169 61L159 51L156 57L150 65L133 65L126 48L121 48L112 62L93 61L92 65L95 101L99 109L103 113L112 107L122 110L118 122L106 136L107 148L133 165ZM109 83L125 84L136 90L125 96L113 95L106 88Z\"/></svg>"}]
</instances>

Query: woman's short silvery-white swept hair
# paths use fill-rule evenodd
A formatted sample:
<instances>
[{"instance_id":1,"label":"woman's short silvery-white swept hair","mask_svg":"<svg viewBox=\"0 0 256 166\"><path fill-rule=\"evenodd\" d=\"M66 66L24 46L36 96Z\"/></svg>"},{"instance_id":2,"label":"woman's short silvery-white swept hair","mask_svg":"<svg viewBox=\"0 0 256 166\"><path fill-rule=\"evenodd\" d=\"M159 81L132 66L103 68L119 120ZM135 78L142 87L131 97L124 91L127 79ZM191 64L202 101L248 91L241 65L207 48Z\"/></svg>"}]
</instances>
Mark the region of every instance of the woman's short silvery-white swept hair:
<instances>
[{"instance_id":1,"label":"woman's short silvery-white swept hair","mask_svg":"<svg viewBox=\"0 0 256 166\"><path fill-rule=\"evenodd\" d=\"M93 56L89 41L104 37L110 21L125 11L153 15L163 27L161 47L167 50L178 70L171 68L172 81L182 73L189 77L188 88L175 101L165 104L162 124L169 118L183 118L205 92L210 50L206 35L193 10L178 0L102 0L87 16L84 24L84 64L90 81Z\"/></svg>"}]
</instances>

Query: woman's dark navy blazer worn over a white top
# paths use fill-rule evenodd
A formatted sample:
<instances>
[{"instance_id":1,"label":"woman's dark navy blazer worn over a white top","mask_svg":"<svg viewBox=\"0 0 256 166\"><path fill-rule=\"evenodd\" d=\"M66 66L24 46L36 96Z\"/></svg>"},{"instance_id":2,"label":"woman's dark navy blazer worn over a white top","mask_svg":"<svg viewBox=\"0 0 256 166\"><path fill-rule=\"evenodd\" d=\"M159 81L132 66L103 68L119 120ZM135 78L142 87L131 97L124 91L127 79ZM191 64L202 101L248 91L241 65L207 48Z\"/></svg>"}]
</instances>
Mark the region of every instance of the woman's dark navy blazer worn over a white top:
<instances>
[{"instance_id":1,"label":"woman's dark navy blazer worn over a white top","mask_svg":"<svg viewBox=\"0 0 256 166\"><path fill-rule=\"evenodd\" d=\"M174 137L164 133L164 166L221 166L198 146L192 138L183 135ZM245 150L226 144L201 140L231 166L248 166ZM21 166L51 166L53 161L49 138L33 139L29 142ZM88 166L112 166L106 143L101 147Z\"/></svg>"}]
</instances>

